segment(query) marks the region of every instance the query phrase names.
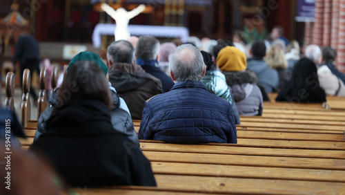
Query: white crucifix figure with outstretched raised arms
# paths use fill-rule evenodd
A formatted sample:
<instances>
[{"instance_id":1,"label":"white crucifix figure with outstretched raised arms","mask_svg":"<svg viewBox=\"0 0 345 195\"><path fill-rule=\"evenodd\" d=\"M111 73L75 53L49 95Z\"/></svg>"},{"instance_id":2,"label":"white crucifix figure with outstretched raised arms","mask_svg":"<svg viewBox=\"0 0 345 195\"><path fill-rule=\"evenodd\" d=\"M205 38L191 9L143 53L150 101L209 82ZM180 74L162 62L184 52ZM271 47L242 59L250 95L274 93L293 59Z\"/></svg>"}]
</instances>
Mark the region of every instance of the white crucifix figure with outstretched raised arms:
<instances>
[{"instance_id":1,"label":"white crucifix figure with outstretched raised arms","mask_svg":"<svg viewBox=\"0 0 345 195\"><path fill-rule=\"evenodd\" d=\"M117 10L115 10L114 8L110 7L107 3L101 3L101 9L116 21L115 41L121 39L129 39L130 32L128 30L128 23L130 19L139 15L141 12L145 10L145 8L146 6L144 4L141 4L134 10L127 12L124 8L118 8Z\"/></svg>"}]
</instances>

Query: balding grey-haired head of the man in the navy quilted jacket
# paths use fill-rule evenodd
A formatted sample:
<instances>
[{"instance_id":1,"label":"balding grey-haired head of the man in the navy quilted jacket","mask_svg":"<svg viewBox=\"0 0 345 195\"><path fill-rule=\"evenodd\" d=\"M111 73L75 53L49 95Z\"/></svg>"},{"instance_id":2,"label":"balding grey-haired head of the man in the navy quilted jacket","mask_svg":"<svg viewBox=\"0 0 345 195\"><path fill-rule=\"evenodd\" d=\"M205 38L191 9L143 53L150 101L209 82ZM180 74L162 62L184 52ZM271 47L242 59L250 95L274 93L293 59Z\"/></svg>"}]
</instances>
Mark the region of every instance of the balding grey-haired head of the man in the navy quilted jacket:
<instances>
[{"instance_id":1,"label":"balding grey-haired head of the man in the navy quilted jacket","mask_svg":"<svg viewBox=\"0 0 345 195\"><path fill-rule=\"evenodd\" d=\"M199 49L191 44L178 46L169 55L169 71L175 75L176 82L199 81L204 73L204 58Z\"/></svg>"}]
</instances>

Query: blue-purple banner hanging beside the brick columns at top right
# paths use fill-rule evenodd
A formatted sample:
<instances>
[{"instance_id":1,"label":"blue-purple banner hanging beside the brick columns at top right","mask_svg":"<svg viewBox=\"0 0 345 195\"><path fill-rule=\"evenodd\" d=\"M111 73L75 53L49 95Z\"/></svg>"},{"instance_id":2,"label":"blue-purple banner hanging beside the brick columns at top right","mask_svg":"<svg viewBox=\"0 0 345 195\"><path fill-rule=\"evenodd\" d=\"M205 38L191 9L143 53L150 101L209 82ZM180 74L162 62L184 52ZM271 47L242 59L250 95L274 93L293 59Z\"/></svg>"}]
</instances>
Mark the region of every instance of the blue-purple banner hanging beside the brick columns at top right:
<instances>
[{"instance_id":1,"label":"blue-purple banner hanging beside the brick columns at top right","mask_svg":"<svg viewBox=\"0 0 345 195\"><path fill-rule=\"evenodd\" d=\"M298 0L296 21L315 21L315 0Z\"/></svg>"}]
</instances>

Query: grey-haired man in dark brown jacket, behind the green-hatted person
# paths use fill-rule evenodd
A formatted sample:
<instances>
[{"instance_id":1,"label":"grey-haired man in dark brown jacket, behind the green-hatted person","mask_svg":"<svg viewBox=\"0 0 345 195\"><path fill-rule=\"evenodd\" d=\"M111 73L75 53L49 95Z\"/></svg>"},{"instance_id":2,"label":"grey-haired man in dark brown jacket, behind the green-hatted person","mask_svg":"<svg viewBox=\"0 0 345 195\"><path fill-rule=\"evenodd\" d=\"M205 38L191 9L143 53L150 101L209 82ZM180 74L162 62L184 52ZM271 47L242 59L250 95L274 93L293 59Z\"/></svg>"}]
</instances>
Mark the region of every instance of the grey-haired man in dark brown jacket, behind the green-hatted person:
<instances>
[{"instance_id":1,"label":"grey-haired man in dark brown jacket, behind the green-hatted person","mask_svg":"<svg viewBox=\"0 0 345 195\"><path fill-rule=\"evenodd\" d=\"M133 120L141 120L145 101L162 93L161 81L134 63L130 42L119 40L108 46L109 81L124 98Z\"/></svg>"}]
</instances>

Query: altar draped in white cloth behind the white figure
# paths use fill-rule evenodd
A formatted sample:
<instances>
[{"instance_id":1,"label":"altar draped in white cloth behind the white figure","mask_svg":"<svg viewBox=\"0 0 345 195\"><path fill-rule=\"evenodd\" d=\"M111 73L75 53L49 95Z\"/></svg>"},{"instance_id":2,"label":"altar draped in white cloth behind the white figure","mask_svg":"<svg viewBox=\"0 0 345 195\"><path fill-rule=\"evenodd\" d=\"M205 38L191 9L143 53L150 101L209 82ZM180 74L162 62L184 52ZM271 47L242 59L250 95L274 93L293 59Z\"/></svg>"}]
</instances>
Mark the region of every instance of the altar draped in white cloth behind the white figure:
<instances>
[{"instance_id":1,"label":"altar draped in white cloth behind the white figure","mask_svg":"<svg viewBox=\"0 0 345 195\"><path fill-rule=\"evenodd\" d=\"M92 33L92 43L95 48L101 47L101 35L112 35L116 24L97 24ZM152 36L152 37L179 37L186 42L189 30L181 26L148 26L148 25L128 25L128 30L132 36Z\"/></svg>"}]
</instances>

